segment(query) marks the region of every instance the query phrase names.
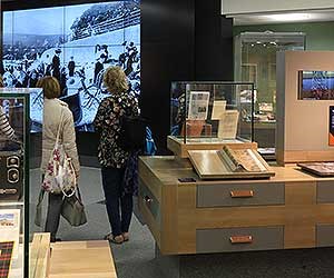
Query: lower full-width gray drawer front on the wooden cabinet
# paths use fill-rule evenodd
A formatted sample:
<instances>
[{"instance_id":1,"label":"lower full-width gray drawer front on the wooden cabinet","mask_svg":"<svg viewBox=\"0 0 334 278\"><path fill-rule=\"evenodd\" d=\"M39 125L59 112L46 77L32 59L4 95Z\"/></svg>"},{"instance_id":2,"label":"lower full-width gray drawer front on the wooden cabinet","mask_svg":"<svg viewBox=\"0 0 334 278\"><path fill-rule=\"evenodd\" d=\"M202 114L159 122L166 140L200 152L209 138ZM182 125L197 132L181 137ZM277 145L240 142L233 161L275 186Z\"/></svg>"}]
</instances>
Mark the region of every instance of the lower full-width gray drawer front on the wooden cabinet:
<instances>
[{"instance_id":1,"label":"lower full-width gray drawer front on the wooden cabinet","mask_svg":"<svg viewBox=\"0 0 334 278\"><path fill-rule=\"evenodd\" d=\"M230 237L252 236L252 244L232 244ZM204 229L196 231L197 252L233 252L284 248L283 226Z\"/></svg>"}]
</instances>

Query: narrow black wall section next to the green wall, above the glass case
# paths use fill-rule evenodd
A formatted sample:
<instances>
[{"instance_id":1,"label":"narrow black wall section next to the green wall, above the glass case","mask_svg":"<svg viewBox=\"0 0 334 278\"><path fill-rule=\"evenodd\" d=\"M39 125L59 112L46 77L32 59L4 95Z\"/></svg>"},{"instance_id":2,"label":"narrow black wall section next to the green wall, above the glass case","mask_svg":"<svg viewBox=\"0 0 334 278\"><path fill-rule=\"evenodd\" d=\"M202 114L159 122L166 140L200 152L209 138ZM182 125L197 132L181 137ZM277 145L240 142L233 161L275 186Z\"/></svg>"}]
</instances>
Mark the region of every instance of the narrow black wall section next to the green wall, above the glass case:
<instances>
[{"instance_id":1,"label":"narrow black wall section next to the green wall, above the glass case","mask_svg":"<svg viewBox=\"0 0 334 278\"><path fill-rule=\"evenodd\" d=\"M196 80L233 81L233 20L220 14L220 0L195 1Z\"/></svg>"}]
</instances>

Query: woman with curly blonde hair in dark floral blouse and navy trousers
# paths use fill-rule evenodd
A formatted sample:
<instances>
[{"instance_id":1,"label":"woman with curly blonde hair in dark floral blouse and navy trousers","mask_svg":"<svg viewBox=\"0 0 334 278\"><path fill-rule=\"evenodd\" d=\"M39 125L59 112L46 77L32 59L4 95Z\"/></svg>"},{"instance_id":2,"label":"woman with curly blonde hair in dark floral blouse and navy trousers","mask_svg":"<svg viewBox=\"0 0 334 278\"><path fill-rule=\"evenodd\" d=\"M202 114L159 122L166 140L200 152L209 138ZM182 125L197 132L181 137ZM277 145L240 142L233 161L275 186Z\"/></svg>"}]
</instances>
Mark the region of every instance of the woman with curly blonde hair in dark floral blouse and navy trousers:
<instances>
[{"instance_id":1,"label":"woman with curly blonde hair in dark floral blouse and navy trousers","mask_svg":"<svg viewBox=\"0 0 334 278\"><path fill-rule=\"evenodd\" d=\"M132 193L125 191L122 182L130 153L118 142L121 129L120 118L139 115L139 108L137 99L128 92L127 77L121 68L108 68L104 82L110 96L100 103L94 125L100 133L98 159L101 165L102 187L111 226L111 232L105 239L122 244L129 240Z\"/></svg>"}]
</instances>

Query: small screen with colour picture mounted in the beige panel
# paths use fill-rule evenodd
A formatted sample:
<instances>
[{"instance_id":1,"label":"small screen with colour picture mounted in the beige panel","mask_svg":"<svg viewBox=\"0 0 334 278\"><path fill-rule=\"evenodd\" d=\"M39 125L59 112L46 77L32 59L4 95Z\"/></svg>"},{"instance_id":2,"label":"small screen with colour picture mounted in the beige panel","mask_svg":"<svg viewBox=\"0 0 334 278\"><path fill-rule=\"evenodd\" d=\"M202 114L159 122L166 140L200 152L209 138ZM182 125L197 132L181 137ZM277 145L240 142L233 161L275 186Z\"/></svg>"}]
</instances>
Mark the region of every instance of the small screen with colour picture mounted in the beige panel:
<instances>
[{"instance_id":1,"label":"small screen with colour picture mounted in the beige panel","mask_svg":"<svg viewBox=\"0 0 334 278\"><path fill-rule=\"evenodd\" d=\"M298 99L301 100L333 100L334 71L299 70Z\"/></svg>"}]
</instances>

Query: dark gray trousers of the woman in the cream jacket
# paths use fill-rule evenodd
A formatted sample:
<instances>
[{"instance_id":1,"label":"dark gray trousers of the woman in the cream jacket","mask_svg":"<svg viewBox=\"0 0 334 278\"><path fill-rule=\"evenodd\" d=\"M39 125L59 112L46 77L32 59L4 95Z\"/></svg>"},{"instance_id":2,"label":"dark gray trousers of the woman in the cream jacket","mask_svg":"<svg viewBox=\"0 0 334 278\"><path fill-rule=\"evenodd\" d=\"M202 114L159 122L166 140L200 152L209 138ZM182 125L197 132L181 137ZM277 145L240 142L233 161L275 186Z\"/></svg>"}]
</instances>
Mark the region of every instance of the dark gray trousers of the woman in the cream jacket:
<instances>
[{"instance_id":1,"label":"dark gray trousers of the woman in the cream jacket","mask_svg":"<svg viewBox=\"0 0 334 278\"><path fill-rule=\"evenodd\" d=\"M51 240L56 240L56 234L59 227L61 206L62 206L62 193L55 195L49 193L48 214L45 231L51 234Z\"/></svg>"}]
</instances>

